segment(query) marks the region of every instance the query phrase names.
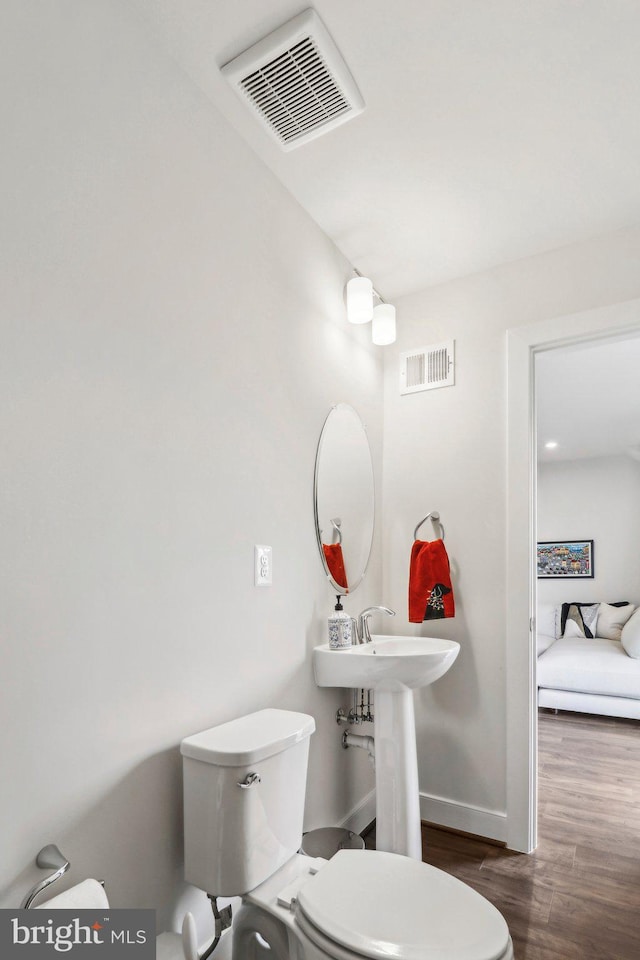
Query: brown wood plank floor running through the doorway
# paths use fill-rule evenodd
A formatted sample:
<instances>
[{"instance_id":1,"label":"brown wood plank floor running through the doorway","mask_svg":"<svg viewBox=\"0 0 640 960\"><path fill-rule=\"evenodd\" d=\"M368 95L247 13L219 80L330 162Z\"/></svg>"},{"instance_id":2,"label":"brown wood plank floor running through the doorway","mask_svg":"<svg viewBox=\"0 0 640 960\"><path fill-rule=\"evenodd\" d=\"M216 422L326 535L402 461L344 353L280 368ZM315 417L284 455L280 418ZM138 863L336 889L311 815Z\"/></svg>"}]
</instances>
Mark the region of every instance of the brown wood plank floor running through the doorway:
<instances>
[{"instance_id":1,"label":"brown wood plank floor running through the doorway","mask_svg":"<svg viewBox=\"0 0 640 960\"><path fill-rule=\"evenodd\" d=\"M544 711L539 731L535 852L424 826L423 860L498 907L516 960L640 960L640 722Z\"/></svg>"}]
</instances>

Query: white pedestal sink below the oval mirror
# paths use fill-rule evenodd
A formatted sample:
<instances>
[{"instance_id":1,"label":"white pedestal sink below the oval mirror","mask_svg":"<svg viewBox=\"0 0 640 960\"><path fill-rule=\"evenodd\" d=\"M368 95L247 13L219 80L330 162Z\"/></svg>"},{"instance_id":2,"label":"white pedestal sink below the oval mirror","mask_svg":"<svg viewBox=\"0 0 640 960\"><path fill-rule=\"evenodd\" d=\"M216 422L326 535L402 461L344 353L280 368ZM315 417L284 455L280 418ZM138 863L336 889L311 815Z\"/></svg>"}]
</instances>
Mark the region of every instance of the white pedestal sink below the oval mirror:
<instances>
[{"instance_id":1,"label":"white pedestal sink below the oval mirror","mask_svg":"<svg viewBox=\"0 0 640 960\"><path fill-rule=\"evenodd\" d=\"M438 680L460 644L433 637L374 635L347 650L313 651L319 687L373 690L376 847L422 859L413 691Z\"/></svg>"}]
</instances>

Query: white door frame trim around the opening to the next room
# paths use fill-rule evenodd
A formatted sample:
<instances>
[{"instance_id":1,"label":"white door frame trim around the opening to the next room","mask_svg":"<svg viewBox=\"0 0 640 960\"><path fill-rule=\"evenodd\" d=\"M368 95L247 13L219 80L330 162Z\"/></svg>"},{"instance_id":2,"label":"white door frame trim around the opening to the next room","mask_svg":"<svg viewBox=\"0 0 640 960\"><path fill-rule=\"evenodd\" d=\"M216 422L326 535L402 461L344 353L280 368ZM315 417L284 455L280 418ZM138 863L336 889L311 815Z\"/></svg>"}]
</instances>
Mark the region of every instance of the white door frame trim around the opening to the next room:
<instances>
[{"instance_id":1,"label":"white door frame trim around the opening to the next room","mask_svg":"<svg viewBox=\"0 0 640 960\"><path fill-rule=\"evenodd\" d=\"M537 844L535 355L638 334L640 299L507 330L507 847L522 853Z\"/></svg>"}]
</instances>

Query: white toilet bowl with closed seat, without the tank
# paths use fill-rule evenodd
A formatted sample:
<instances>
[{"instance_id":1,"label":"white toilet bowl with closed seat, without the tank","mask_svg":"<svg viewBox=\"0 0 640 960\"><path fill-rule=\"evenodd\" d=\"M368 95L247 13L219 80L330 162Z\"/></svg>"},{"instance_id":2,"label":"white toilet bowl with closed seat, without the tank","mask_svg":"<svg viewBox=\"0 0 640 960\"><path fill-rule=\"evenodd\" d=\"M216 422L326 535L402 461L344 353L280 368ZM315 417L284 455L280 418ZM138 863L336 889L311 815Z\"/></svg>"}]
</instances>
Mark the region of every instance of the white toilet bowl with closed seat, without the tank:
<instances>
[{"instance_id":1,"label":"white toilet bowl with closed seat, without the tank","mask_svg":"<svg viewBox=\"0 0 640 960\"><path fill-rule=\"evenodd\" d=\"M372 850L296 856L245 895L234 925L233 960L253 960L255 933L273 960L513 958L488 900L442 870Z\"/></svg>"}]
</instances>

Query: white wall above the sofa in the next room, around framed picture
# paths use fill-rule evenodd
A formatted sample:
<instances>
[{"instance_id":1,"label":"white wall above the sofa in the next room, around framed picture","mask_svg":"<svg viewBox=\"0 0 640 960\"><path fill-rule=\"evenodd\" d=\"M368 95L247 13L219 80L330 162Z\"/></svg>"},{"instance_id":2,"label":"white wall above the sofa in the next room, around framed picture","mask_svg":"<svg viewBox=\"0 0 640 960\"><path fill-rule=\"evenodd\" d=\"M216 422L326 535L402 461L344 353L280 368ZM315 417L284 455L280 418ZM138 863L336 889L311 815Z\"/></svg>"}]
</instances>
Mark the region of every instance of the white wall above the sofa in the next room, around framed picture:
<instances>
[{"instance_id":1,"label":"white wall above the sofa in the next room, around framed picture","mask_svg":"<svg viewBox=\"0 0 640 960\"><path fill-rule=\"evenodd\" d=\"M640 601L640 464L629 457L541 463L538 539L593 540L594 577L538 580L539 603Z\"/></svg>"}]
</instances>

